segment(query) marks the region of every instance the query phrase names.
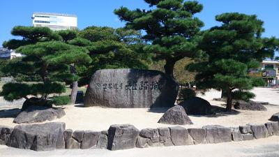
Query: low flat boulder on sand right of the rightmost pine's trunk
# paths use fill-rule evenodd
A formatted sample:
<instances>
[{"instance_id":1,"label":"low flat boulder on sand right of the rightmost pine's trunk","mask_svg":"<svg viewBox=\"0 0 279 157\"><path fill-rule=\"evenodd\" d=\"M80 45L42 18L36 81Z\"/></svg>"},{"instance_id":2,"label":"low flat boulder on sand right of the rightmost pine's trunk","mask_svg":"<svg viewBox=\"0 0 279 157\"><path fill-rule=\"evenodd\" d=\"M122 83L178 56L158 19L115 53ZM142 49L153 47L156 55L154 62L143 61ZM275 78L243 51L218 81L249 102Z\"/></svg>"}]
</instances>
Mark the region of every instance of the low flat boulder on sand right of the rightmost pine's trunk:
<instances>
[{"instance_id":1,"label":"low flat boulder on sand right of the rightmost pine's trunk","mask_svg":"<svg viewBox=\"0 0 279 157\"><path fill-rule=\"evenodd\" d=\"M249 100L248 102L243 100L236 100L234 104L236 110L252 110L252 111L266 111L266 107L261 103L256 103L255 101Z\"/></svg>"}]
</instances>

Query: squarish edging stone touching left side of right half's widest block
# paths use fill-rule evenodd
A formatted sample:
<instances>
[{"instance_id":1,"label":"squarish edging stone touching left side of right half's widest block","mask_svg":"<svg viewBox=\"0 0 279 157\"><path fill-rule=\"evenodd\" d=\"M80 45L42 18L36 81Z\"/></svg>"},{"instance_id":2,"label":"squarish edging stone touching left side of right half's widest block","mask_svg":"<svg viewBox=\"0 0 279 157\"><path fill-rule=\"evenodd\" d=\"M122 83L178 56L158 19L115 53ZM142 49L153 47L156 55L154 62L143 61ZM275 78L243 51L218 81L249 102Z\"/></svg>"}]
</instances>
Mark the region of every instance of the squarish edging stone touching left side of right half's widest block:
<instances>
[{"instance_id":1,"label":"squarish edging stone touching left side of right half's widest block","mask_svg":"<svg viewBox=\"0 0 279 157\"><path fill-rule=\"evenodd\" d=\"M206 131L204 128L188 128L188 133L193 138L194 144L206 142Z\"/></svg>"}]
</instances>

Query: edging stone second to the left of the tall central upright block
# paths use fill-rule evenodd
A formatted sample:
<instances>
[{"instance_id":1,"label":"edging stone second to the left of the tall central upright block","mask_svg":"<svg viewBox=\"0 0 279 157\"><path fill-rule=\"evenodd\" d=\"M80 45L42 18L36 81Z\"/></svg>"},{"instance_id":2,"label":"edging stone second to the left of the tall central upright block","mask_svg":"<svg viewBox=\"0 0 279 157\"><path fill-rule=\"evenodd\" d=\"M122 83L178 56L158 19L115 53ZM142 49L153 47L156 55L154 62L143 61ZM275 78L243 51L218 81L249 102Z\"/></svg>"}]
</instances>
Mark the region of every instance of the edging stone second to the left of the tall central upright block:
<instances>
[{"instance_id":1,"label":"edging stone second to the left of the tall central upright block","mask_svg":"<svg viewBox=\"0 0 279 157\"><path fill-rule=\"evenodd\" d=\"M99 137L100 137L100 132L96 132L92 130L84 131L82 144L80 145L80 148L81 149L90 149L93 147L96 148Z\"/></svg>"}]
</instances>

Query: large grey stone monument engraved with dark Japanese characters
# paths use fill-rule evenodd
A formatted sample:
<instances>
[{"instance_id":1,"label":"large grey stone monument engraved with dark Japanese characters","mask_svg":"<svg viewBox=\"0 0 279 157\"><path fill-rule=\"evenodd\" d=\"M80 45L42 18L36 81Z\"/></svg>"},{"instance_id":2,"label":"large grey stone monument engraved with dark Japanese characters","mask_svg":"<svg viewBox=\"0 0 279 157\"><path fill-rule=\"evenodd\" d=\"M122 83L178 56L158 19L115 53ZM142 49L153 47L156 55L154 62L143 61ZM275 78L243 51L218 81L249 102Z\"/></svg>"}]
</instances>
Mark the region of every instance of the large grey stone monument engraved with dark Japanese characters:
<instances>
[{"instance_id":1,"label":"large grey stone monument engraved with dark Japanese characters","mask_svg":"<svg viewBox=\"0 0 279 157\"><path fill-rule=\"evenodd\" d=\"M98 70L87 87L84 106L172 107L179 85L158 70Z\"/></svg>"}]
</instances>

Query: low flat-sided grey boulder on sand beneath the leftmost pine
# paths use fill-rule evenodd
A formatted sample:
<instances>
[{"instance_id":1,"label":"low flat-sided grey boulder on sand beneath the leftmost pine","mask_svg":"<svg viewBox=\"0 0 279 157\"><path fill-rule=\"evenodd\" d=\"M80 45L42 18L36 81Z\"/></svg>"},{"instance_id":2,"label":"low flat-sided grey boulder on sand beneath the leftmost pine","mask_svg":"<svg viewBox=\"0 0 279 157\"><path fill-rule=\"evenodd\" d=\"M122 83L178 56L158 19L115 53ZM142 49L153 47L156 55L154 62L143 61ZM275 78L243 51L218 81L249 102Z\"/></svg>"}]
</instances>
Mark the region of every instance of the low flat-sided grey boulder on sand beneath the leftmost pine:
<instances>
[{"instance_id":1,"label":"low flat-sided grey boulder on sand beneath the leftmost pine","mask_svg":"<svg viewBox=\"0 0 279 157\"><path fill-rule=\"evenodd\" d=\"M16 124L33 124L43 121L52 121L65 116L61 108L29 106L13 120Z\"/></svg>"}]
</instances>

